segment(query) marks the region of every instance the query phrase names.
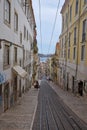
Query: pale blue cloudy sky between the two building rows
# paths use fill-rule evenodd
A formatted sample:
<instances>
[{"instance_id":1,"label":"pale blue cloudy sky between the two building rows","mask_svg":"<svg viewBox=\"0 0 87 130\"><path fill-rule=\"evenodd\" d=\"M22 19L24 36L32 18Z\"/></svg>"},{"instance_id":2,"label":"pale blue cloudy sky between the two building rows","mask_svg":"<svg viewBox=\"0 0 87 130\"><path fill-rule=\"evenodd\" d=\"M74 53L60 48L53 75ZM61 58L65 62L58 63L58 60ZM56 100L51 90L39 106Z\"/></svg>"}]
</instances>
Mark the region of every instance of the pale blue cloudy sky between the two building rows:
<instances>
[{"instance_id":1,"label":"pale blue cloudy sky between the two building rows","mask_svg":"<svg viewBox=\"0 0 87 130\"><path fill-rule=\"evenodd\" d=\"M65 0L60 0L55 29L52 36L54 21L57 12L59 0L40 0L41 9L41 33L40 33L40 17L39 17L39 0L32 0L33 10L36 21L37 45L38 53L53 54L55 53L56 43L59 41L62 28L62 17L60 14L62 5ZM42 36L42 42L41 42Z\"/></svg>"}]
</instances>

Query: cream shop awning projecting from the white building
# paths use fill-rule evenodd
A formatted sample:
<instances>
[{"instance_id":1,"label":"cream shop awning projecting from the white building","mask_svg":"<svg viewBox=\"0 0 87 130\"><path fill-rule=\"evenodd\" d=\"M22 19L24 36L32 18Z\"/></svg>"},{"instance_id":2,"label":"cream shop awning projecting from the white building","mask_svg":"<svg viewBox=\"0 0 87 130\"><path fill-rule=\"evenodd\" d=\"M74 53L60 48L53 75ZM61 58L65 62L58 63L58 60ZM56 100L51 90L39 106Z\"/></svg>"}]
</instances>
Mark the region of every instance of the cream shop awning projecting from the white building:
<instances>
[{"instance_id":1,"label":"cream shop awning projecting from the white building","mask_svg":"<svg viewBox=\"0 0 87 130\"><path fill-rule=\"evenodd\" d=\"M21 66L14 66L13 71L18 74L20 77L24 78L27 75L27 72Z\"/></svg>"}]
</instances>

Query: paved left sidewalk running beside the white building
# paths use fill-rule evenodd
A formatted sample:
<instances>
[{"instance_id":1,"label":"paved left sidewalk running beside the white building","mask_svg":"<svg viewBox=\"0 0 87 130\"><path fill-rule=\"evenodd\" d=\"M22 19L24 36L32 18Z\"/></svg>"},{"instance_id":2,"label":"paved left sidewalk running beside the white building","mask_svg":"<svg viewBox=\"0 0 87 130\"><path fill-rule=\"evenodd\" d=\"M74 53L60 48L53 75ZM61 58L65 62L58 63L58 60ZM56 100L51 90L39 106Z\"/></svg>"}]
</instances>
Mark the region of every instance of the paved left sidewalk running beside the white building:
<instances>
[{"instance_id":1,"label":"paved left sidewalk running beside the white building","mask_svg":"<svg viewBox=\"0 0 87 130\"><path fill-rule=\"evenodd\" d=\"M31 88L5 113L0 115L0 130L32 130L37 107L38 90Z\"/></svg>"}]
</instances>

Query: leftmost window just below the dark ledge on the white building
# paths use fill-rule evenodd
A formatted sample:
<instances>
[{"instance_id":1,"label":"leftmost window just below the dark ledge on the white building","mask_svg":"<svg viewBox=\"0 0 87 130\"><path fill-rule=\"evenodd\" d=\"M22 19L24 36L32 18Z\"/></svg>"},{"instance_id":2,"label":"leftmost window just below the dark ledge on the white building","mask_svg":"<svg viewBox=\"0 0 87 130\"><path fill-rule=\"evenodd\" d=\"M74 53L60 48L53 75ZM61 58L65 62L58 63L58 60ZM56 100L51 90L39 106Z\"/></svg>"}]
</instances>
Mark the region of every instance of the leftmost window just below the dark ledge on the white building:
<instances>
[{"instance_id":1,"label":"leftmost window just below the dark ledge on the white building","mask_svg":"<svg viewBox=\"0 0 87 130\"><path fill-rule=\"evenodd\" d=\"M9 45L5 45L4 49L4 66L7 66L10 64L10 49Z\"/></svg>"}]
</instances>

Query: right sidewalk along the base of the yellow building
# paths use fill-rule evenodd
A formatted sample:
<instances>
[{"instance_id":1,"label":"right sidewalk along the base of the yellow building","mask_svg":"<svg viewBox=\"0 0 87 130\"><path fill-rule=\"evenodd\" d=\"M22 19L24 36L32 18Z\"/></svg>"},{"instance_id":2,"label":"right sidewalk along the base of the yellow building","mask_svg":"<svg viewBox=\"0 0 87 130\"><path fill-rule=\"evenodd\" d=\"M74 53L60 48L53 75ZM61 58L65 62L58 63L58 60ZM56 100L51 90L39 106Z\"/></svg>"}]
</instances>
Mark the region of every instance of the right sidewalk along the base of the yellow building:
<instances>
[{"instance_id":1,"label":"right sidewalk along the base of the yellow building","mask_svg":"<svg viewBox=\"0 0 87 130\"><path fill-rule=\"evenodd\" d=\"M64 91L54 83L50 83L63 102L74 112L80 119L87 123L87 96L75 96L69 91Z\"/></svg>"}]
</instances>

